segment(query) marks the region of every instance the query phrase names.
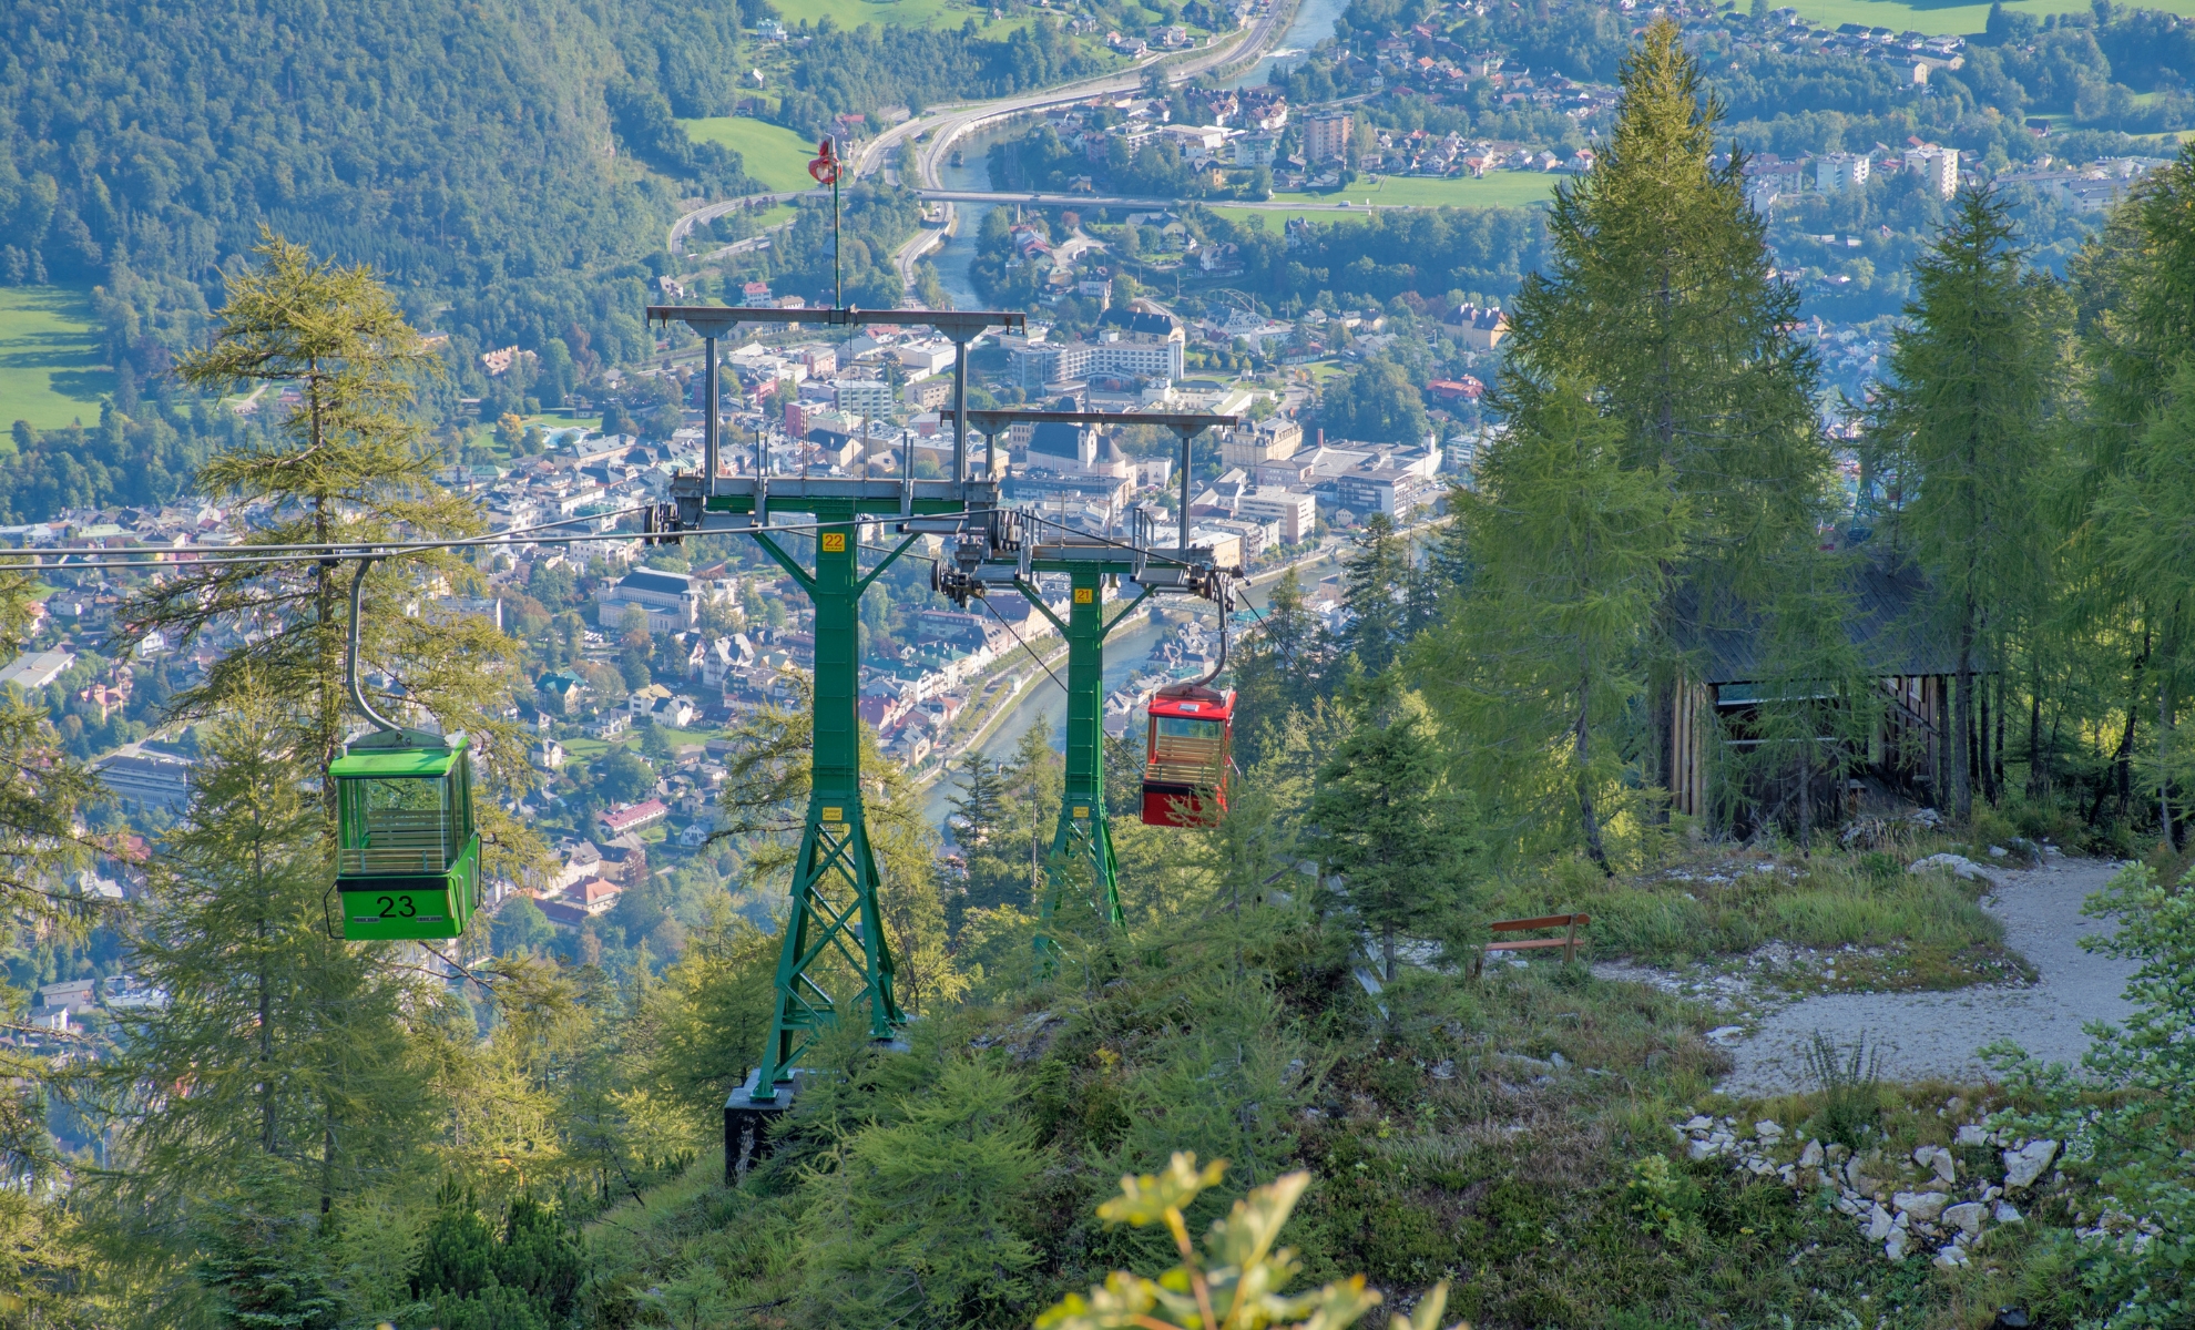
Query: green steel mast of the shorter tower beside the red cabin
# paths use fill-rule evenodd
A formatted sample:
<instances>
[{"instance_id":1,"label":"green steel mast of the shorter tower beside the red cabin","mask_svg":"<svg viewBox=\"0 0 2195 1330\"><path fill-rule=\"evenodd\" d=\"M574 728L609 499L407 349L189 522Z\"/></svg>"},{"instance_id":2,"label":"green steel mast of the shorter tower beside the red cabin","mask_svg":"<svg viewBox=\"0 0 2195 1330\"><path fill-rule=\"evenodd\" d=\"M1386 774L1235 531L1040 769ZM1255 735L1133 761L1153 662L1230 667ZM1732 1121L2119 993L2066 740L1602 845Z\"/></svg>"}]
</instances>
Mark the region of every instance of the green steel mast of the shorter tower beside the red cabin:
<instances>
[{"instance_id":1,"label":"green steel mast of the shorter tower beside the red cabin","mask_svg":"<svg viewBox=\"0 0 2195 1330\"><path fill-rule=\"evenodd\" d=\"M1058 957L1049 931L1060 909L1060 893L1067 889L1067 867L1073 863L1087 863L1091 869L1091 906L1115 928L1128 926L1128 915L1119 909L1119 865L1113 858L1113 827L1104 803L1104 639L1144 604L1150 590L1108 621L1100 586L1106 575L1119 573L1133 575L1135 564L1122 562L1115 568L1111 562L1078 560L1067 568L1071 593L1065 623L1034 586L1016 582L1029 604L1067 639L1067 781L1060 790L1060 821L1051 832L1047 891L1038 902L1036 933L1036 953L1047 963Z\"/></svg>"}]
</instances>

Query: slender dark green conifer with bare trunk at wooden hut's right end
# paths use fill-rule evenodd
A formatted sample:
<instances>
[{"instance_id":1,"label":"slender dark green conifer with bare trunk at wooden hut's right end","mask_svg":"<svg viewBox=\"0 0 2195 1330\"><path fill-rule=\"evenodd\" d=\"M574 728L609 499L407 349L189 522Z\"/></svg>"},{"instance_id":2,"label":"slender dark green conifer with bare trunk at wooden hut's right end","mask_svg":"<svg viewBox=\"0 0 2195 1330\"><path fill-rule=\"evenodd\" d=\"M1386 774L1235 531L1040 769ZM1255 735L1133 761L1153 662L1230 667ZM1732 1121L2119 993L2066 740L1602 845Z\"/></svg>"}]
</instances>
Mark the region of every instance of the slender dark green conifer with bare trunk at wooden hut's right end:
<instances>
[{"instance_id":1,"label":"slender dark green conifer with bare trunk at wooden hut's right end","mask_svg":"<svg viewBox=\"0 0 2195 1330\"><path fill-rule=\"evenodd\" d=\"M1907 494L1896 531L1929 573L1936 619L1956 652L1949 792L1960 819L1973 810L1975 672L2002 669L1989 639L2002 641L2048 579L2050 533L2039 514L2061 309L2057 283L2013 244L2004 202L1986 189L1962 193L1914 263L1910 323L1875 406L1875 450Z\"/></svg>"}]
</instances>

